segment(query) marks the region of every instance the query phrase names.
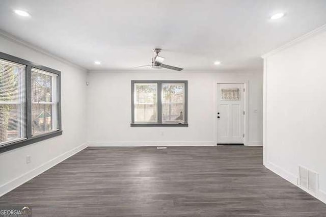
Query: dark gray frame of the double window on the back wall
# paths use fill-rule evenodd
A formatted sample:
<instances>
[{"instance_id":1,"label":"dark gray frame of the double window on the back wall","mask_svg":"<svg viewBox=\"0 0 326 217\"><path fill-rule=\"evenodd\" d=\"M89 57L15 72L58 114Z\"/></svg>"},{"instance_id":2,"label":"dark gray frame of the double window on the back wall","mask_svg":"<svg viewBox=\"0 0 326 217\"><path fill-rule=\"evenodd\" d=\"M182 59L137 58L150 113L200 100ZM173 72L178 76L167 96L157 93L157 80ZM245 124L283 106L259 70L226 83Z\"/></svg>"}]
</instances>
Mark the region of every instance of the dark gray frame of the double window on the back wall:
<instances>
[{"instance_id":1,"label":"dark gray frame of the double window on the back wall","mask_svg":"<svg viewBox=\"0 0 326 217\"><path fill-rule=\"evenodd\" d=\"M134 85L137 83L157 84L157 123L134 122ZM184 84L184 123L162 123L162 84ZM131 127L188 127L188 81L187 80L131 80Z\"/></svg>"}]
</instances>

